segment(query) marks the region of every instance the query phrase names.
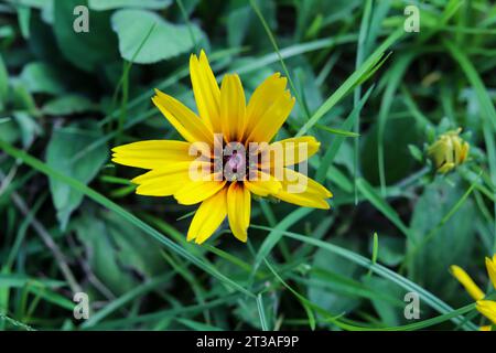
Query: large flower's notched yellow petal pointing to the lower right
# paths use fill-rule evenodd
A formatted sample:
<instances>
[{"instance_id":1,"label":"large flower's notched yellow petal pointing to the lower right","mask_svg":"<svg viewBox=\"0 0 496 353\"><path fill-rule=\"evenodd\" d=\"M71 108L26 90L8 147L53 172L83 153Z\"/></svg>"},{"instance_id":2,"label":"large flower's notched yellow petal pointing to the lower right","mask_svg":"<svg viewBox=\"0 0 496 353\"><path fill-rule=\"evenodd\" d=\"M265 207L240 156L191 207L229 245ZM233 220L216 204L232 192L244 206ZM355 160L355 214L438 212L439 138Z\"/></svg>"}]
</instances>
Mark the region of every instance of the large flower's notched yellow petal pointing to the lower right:
<instances>
[{"instance_id":1,"label":"large flower's notched yellow petal pointing to the lower right","mask_svg":"<svg viewBox=\"0 0 496 353\"><path fill-rule=\"evenodd\" d=\"M276 175L276 178L278 176ZM302 173L284 169L281 184L282 189L276 194L276 197L303 207L330 208L325 199L332 197L333 194Z\"/></svg>"}]
</instances>

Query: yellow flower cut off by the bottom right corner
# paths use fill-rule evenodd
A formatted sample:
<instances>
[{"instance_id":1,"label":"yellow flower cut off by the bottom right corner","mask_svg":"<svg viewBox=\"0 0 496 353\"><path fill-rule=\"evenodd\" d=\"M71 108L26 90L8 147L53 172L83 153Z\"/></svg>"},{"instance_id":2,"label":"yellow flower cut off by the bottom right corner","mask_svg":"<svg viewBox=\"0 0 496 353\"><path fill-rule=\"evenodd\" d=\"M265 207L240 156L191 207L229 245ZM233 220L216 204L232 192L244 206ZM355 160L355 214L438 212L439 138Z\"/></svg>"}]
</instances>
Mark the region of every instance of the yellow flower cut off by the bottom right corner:
<instances>
[{"instance_id":1,"label":"yellow flower cut off by the bottom right corner","mask_svg":"<svg viewBox=\"0 0 496 353\"><path fill-rule=\"evenodd\" d=\"M490 281L493 282L493 287L496 288L496 254L493 256L493 259L486 257L486 268ZM496 324L496 301L485 300L485 295L481 288L478 288L472 278L459 266L451 266L451 272L463 287L465 287L468 295L475 299L478 312ZM489 331L490 327L483 327L481 330Z\"/></svg>"}]
</instances>

